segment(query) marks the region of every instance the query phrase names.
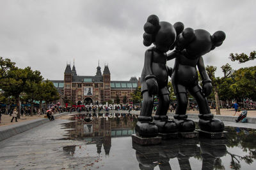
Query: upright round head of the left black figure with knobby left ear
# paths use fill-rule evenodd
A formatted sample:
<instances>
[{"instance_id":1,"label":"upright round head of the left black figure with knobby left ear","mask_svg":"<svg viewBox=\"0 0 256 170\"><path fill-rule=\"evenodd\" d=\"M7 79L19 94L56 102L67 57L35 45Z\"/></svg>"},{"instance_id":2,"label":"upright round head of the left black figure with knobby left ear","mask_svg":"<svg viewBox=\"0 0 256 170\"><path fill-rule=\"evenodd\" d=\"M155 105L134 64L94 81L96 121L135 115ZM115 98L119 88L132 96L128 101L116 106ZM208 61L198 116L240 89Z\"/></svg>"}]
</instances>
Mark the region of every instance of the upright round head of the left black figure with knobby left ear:
<instances>
[{"instance_id":1,"label":"upright round head of the left black figure with knobby left ear","mask_svg":"<svg viewBox=\"0 0 256 170\"><path fill-rule=\"evenodd\" d=\"M152 43L161 52L168 52L170 46L175 42L176 31L169 22L159 22L156 15L150 15L144 25L143 44L150 46Z\"/></svg>"}]
</instances>

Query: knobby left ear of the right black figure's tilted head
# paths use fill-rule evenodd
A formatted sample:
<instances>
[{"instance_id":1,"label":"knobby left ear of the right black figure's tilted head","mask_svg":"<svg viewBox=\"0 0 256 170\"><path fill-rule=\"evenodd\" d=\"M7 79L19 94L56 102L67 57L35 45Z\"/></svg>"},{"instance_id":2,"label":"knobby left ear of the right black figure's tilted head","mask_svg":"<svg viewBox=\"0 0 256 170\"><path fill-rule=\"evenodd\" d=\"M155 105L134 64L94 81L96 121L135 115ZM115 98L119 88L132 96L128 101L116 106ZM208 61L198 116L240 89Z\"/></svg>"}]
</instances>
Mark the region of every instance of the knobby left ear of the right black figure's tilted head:
<instances>
[{"instance_id":1,"label":"knobby left ear of the right black figure's tilted head","mask_svg":"<svg viewBox=\"0 0 256 170\"><path fill-rule=\"evenodd\" d=\"M194 29L191 28L186 28L182 32L182 34L179 34L177 37L177 42L176 42L176 50L183 50L188 46L188 44L193 41L195 38L195 31Z\"/></svg>"}]
</instances>

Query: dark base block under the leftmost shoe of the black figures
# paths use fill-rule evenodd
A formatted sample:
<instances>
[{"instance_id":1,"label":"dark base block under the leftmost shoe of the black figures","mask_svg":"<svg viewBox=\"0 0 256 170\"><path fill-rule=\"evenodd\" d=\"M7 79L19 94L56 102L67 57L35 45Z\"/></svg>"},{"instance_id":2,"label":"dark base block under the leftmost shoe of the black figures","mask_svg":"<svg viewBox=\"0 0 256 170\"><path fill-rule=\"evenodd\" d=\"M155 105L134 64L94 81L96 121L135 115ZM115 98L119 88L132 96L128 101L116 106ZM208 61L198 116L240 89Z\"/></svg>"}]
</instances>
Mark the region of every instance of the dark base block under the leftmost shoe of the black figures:
<instances>
[{"instance_id":1,"label":"dark base block under the leftmost shoe of the black figures","mask_svg":"<svg viewBox=\"0 0 256 170\"><path fill-rule=\"evenodd\" d=\"M161 143L162 138L156 136L154 138L142 138L138 134L132 134L132 142L138 143L138 145L158 145Z\"/></svg>"}]
</instances>

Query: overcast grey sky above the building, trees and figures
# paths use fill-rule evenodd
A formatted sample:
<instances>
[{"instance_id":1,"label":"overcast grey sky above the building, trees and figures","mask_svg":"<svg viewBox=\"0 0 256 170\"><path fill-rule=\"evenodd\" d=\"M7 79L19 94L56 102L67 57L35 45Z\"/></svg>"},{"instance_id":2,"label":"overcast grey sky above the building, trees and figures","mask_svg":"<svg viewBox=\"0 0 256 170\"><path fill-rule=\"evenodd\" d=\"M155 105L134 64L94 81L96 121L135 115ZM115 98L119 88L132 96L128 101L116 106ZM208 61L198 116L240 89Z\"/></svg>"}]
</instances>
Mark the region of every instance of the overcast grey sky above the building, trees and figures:
<instances>
[{"instance_id":1,"label":"overcast grey sky above the building, trees and figures","mask_svg":"<svg viewBox=\"0 0 256 170\"><path fill-rule=\"evenodd\" d=\"M140 76L144 53L143 25L155 14L162 21L224 31L223 45L204 56L205 66L238 64L230 53L256 50L255 1L9 1L0 0L0 56L18 67L31 66L45 79L63 80L67 62L75 60L77 74L93 76L98 60L108 64L111 80ZM173 60L168 66L173 67Z\"/></svg>"}]
</instances>

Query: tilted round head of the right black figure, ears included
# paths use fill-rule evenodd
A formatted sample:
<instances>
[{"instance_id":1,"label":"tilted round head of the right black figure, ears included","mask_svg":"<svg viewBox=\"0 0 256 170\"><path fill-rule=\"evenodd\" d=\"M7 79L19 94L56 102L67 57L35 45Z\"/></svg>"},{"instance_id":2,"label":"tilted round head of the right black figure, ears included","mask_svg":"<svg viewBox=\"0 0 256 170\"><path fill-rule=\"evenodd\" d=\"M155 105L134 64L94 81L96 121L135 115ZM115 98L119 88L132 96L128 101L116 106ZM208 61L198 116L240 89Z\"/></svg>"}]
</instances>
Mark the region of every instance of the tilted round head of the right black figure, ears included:
<instances>
[{"instance_id":1,"label":"tilted round head of the right black figure, ears included","mask_svg":"<svg viewBox=\"0 0 256 170\"><path fill-rule=\"evenodd\" d=\"M177 50L186 49L189 57L202 56L220 46L226 38L223 31L217 31L212 36L204 29L186 28L179 34L176 43Z\"/></svg>"}]
</instances>

